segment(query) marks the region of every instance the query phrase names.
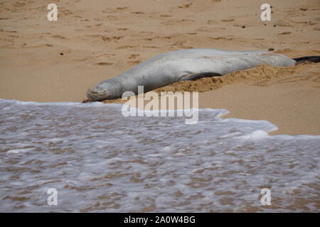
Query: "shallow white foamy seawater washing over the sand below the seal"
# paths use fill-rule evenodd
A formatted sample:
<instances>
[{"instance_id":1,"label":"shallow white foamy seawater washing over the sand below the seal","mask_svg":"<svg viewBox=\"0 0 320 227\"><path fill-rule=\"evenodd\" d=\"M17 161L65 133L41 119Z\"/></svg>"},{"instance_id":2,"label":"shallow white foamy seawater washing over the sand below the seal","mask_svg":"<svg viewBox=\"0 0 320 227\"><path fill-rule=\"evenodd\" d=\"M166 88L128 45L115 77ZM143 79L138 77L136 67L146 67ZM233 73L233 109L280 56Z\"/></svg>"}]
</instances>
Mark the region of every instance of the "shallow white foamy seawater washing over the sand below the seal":
<instances>
[{"instance_id":1,"label":"shallow white foamy seawater washing over the sand below the seal","mask_svg":"<svg viewBox=\"0 0 320 227\"><path fill-rule=\"evenodd\" d=\"M0 99L0 211L319 212L320 136L270 136L272 123L227 112L186 125L125 118L119 104Z\"/></svg>"}]
</instances>

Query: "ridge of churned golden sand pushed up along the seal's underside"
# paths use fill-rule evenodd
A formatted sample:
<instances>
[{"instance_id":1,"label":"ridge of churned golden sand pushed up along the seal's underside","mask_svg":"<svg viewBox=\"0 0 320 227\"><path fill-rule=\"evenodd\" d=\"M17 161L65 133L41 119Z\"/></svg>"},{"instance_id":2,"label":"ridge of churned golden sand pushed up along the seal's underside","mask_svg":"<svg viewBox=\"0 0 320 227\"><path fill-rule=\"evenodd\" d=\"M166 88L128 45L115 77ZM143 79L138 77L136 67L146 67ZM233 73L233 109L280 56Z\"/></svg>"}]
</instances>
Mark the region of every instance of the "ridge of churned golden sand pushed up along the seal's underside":
<instances>
[{"instance_id":1,"label":"ridge of churned golden sand pushed up along the seal's underside","mask_svg":"<svg viewBox=\"0 0 320 227\"><path fill-rule=\"evenodd\" d=\"M248 70L240 70L225 74L222 77L201 78L196 81L183 81L169 84L165 87L154 89L154 92L208 92L219 89L227 84L244 83L255 86L267 86L272 79L278 78L277 82L296 82L309 80L320 83L320 64L303 62L294 67L273 67L270 65L258 65ZM300 72L309 72L305 76L297 76ZM319 86L320 87L320 84ZM83 101L87 102L87 100ZM105 100L103 103L122 103L121 99Z\"/></svg>"}]
</instances>

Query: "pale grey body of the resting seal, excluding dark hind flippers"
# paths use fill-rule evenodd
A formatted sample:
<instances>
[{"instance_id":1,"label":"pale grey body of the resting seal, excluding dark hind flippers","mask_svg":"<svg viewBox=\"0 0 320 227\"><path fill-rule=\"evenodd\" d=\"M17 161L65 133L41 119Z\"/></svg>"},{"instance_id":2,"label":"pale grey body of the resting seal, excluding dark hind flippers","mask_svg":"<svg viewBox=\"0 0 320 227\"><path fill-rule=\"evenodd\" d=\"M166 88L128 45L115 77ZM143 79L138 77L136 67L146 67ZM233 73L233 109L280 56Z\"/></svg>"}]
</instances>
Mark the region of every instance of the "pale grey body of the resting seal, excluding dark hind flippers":
<instances>
[{"instance_id":1,"label":"pale grey body of the resting seal, excluding dark hind flippers","mask_svg":"<svg viewBox=\"0 0 320 227\"><path fill-rule=\"evenodd\" d=\"M138 94L138 86L144 86L144 92L149 92L174 82L222 76L260 64L294 66L295 63L284 55L262 51L176 50L152 57L117 77L100 82L87 92L87 97L91 101L119 99L127 91Z\"/></svg>"}]
</instances>

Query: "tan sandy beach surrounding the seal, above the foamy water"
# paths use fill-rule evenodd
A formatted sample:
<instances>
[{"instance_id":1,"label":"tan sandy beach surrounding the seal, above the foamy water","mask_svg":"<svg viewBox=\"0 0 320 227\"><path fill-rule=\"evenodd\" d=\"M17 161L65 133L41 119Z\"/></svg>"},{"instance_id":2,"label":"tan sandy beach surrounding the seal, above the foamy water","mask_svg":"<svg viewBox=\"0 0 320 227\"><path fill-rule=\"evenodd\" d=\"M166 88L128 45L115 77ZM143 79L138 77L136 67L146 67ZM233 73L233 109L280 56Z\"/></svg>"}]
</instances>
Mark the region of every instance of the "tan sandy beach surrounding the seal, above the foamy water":
<instances>
[{"instance_id":1,"label":"tan sandy beach surrounding the seal, above the foamy water","mask_svg":"<svg viewBox=\"0 0 320 227\"><path fill-rule=\"evenodd\" d=\"M0 98L82 101L87 89L149 57L183 48L265 50L289 57L320 55L320 1L212 0L0 2ZM63 54L63 55L61 55ZM200 91L200 107L226 117L265 119L274 133L320 134L320 64L259 66L224 78L174 84Z\"/></svg>"}]
</instances>

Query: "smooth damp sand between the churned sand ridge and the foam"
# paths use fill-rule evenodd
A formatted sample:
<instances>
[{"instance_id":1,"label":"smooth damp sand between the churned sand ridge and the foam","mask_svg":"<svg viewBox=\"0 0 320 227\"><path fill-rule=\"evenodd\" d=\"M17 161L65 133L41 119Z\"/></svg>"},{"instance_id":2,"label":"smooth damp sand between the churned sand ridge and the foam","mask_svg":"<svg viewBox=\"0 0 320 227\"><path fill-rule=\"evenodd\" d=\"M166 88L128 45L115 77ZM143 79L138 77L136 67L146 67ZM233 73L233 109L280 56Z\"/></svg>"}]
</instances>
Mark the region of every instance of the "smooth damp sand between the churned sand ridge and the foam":
<instances>
[{"instance_id":1,"label":"smooth damp sand between the churned sand ridge and the foam","mask_svg":"<svg viewBox=\"0 0 320 227\"><path fill-rule=\"evenodd\" d=\"M292 101L292 94L297 92L299 96L294 96L297 99ZM223 118L267 119L279 128L271 135L319 135L317 113L320 111L320 94L318 89L310 88L306 82L267 87L231 84L200 94L200 100L200 107L228 109L230 114Z\"/></svg>"}]
</instances>

